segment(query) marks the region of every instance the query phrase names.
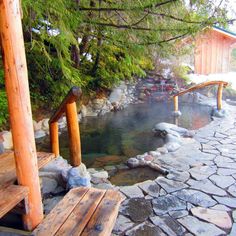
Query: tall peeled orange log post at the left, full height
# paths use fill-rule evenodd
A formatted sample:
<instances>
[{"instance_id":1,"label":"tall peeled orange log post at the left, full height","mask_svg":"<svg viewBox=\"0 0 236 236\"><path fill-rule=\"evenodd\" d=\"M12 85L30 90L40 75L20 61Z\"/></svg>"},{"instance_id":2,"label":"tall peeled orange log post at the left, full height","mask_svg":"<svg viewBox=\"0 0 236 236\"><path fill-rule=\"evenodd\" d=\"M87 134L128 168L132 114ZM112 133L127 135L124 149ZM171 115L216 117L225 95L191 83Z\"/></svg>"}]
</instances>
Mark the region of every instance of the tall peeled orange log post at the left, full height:
<instances>
[{"instance_id":1,"label":"tall peeled orange log post at the left, full height","mask_svg":"<svg viewBox=\"0 0 236 236\"><path fill-rule=\"evenodd\" d=\"M32 230L43 219L43 208L19 0L0 0L0 35L17 180L29 188L23 221Z\"/></svg>"}]
</instances>

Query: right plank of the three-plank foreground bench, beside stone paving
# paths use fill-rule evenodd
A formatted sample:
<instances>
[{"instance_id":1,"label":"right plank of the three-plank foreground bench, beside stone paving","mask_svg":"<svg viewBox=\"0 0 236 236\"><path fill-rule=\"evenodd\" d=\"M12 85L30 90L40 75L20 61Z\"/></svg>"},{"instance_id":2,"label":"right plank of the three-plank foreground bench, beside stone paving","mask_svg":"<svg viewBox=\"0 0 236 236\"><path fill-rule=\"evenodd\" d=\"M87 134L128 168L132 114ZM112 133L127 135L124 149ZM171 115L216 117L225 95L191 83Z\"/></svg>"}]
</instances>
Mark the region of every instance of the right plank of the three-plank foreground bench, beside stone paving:
<instances>
[{"instance_id":1,"label":"right plank of the three-plank foreground bench, beside stone paving","mask_svg":"<svg viewBox=\"0 0 236 236\"><path fill-rule=\"evenodd\" d=\"M107 190L104 198L81 235L111 235L122 200L123 198L119 192Z\"/></svg>"}]
</instances>

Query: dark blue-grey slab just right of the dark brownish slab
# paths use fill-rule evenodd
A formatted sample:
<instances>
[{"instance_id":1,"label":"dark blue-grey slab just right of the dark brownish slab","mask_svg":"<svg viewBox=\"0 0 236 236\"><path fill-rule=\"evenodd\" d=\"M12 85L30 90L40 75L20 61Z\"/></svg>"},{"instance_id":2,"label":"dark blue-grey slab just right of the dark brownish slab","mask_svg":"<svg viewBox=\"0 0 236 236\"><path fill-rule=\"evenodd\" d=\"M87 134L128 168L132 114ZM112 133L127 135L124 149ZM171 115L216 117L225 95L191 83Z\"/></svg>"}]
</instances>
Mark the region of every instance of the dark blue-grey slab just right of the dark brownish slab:
<instances>
[{"instance_id":1,"label":"dark blue-grey slab just right of the dark brownish slab","mask_svg":"<svg viewBox=\"0 0 236 236\"><path fill-rule=\"evenodd\" d=\"M157 215L164 215L169 211L185 210L186 203L176 196L166 195L152 200L153 210Z\"/></svg>"}]
</instances>

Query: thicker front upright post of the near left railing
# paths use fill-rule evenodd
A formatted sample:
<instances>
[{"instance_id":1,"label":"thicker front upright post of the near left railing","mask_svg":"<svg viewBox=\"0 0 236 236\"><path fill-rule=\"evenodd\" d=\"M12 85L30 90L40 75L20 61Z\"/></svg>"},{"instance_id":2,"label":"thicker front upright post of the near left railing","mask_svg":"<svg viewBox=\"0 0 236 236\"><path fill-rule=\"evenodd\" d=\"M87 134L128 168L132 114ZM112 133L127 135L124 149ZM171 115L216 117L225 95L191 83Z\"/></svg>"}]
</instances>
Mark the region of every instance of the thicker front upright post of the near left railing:
<instances>
[{"instance_id":1,"label":"thicker front upright post of the near left railing","mask_svg":"<svg viewBox=\"0 0 236 236\"><path fill-rule=\"evenodd\" d=\"M81 164L81 144L76 102L66 104L66 120L70 139L70 164L79 166Z\"/></svg>"}]
</instances>

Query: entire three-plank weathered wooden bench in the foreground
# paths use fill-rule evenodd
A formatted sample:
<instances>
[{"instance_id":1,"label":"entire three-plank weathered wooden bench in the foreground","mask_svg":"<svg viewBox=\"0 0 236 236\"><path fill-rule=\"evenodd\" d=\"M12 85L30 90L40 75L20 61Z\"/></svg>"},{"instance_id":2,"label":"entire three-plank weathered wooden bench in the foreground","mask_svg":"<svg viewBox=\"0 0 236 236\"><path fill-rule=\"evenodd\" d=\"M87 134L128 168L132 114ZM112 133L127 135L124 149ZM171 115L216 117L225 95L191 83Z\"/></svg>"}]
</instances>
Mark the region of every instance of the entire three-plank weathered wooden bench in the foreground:
<instances>
[{"instance_id":1,"label":"entire three-plank weathered wooden bench in the foreground","mask_svg":"<svg viewBox=\"0 0 236 236\"><path fill-rule=\"evenodd\" d=\"M114 190L74 188L46 216L33 235L110 236L123 200Z\"/></svg>"}]
</instances>

